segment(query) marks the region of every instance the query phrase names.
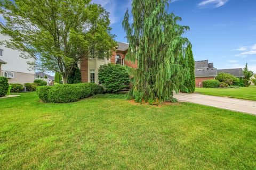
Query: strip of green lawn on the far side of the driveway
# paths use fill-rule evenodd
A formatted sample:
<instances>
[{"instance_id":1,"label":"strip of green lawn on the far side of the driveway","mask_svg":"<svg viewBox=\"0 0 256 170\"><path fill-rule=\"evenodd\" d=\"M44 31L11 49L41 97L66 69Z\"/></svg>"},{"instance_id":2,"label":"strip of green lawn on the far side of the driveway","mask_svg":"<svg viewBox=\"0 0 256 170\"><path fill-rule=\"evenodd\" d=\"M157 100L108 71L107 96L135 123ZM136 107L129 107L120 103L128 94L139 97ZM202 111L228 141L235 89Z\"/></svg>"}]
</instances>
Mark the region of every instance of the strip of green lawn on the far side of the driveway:
<instances>
[{"instance_id":1,"label":"strip of green lawn on the far side of the driveway","mask_svg":"<svg viewBox=\"0 0 256 170\"><path fill-rule=\"evenodd\" d=\"M204 95L223 96L246 100L256 100L256 86L229 88L196 88L196 92Z\"/></svg>"}]
</instances>

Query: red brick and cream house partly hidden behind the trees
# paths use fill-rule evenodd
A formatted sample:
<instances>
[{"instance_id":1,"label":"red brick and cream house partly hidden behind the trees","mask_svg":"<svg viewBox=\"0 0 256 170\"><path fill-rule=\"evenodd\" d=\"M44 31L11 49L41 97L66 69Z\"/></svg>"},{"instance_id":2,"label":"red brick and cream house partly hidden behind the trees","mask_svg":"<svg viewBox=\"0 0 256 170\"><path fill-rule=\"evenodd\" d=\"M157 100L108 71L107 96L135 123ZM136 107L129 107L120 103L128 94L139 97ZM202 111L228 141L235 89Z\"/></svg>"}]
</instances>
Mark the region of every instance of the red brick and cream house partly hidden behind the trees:
<instances>
[{"instance_id":1,"label":"red brick and cream house partly hidden behind the trees","mask_svg":"<svg viewBox=\"0 0 256 170\"><path fill-rule=\"evenodd\" d=\"M127 65L129 67L137 67L136 63L132 63L130 61L125 60L125 56L127 54L127 49L129 48L129 44L127 43L117 43L116 51L113 51L112 56L107 59L84 59L78 65L81 70L82 82L93 82L99 84L98 72L100 66L103 64L113 63L113 64L121 64Z\"/></svg>"}]
</instances>

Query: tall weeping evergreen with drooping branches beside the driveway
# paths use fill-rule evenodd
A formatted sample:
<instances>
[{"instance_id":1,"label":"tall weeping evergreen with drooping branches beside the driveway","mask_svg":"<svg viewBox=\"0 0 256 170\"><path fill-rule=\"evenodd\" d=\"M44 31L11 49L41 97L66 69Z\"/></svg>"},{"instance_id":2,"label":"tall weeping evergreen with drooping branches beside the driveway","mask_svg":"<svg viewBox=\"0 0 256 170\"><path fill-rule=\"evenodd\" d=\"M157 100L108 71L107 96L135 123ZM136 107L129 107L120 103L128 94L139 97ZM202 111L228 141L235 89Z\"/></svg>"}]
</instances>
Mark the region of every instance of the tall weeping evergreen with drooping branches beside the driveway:
<instances>
[{"instance_id":1,"label":"tall weeping evergreen with drooping branches beside the driveway","mask_svg":"<svg viewBox=\"0 0 256 170\"><path fill-rule=\"evenodd\" d=\"M186 48L190 43L182 34L189 27L179 25L181 18L167 12L168 2L133 0L133 23L129 23L128 10L124 15L123 28L130 44L126 60L138 61L132 98L162 102L172 100L173 91L187 90Z\"/></svg>"}]
</instances>

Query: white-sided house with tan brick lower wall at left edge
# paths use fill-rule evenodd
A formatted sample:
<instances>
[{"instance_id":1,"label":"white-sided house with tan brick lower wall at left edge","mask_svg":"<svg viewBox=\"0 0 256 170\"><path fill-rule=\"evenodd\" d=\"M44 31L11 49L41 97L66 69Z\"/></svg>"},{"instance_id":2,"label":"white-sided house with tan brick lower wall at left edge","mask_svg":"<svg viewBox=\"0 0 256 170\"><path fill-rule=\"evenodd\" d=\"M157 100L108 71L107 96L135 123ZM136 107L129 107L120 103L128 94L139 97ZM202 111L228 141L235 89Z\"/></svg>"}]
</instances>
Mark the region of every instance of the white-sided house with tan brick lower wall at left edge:
<instances>
[{"instance_id":1,"label":"white-sided house with tan brick lower wall at left edge","mask_svg":"<svg viewBox=\"0 0 256 170\"><path fill-rule=\"evenodd\" d=\"M4 27L0 23L0 28ZM0 33L0 41L9 40L9 36ZM20 57L22 52L6 48L5 45L0 45L0 76L8 78L9 83L31 83L35 80L35 70L30 69L28 62L35 62L36 57L25 53L26 56L31 56L28 59Z\"/></svg>"}]
</instances>

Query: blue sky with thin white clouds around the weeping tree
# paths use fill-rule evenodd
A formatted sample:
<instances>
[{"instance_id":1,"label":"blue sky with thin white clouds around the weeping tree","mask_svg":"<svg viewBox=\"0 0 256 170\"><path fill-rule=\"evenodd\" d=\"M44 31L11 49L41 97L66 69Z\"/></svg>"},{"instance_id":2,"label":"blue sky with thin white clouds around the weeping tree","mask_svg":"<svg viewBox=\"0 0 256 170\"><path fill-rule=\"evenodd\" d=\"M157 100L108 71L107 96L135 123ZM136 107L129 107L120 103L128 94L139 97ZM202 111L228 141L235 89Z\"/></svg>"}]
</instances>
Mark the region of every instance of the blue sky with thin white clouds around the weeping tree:
<instances>
[{"instance_id":1,"label":"blue sky with thin white clouds around the weeping tree","mask_svg":"<svg viewBox=\"0 0 256 170\"><path fill-rule=\"evenodd\" d=\"M122 27L131 0L93 0L110 13L111 33L126 43ZM217 69L243 68L246 63L256 73L256 0L173 0L169 12L181 16L188 25L196 61L209 60Z\"/></svg>"}]
</instances>

